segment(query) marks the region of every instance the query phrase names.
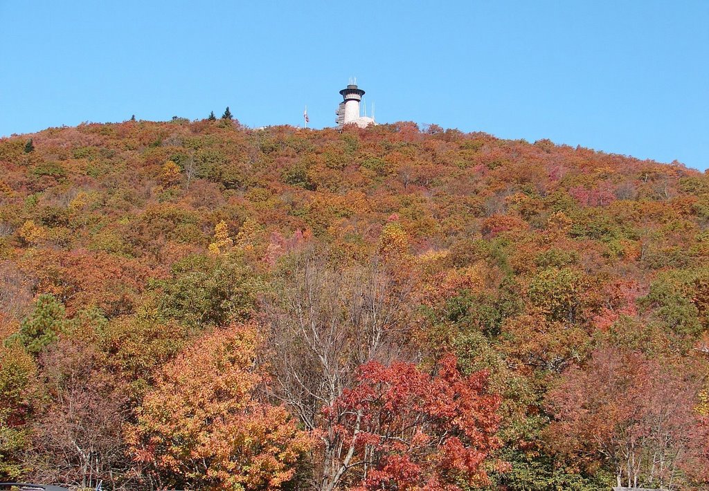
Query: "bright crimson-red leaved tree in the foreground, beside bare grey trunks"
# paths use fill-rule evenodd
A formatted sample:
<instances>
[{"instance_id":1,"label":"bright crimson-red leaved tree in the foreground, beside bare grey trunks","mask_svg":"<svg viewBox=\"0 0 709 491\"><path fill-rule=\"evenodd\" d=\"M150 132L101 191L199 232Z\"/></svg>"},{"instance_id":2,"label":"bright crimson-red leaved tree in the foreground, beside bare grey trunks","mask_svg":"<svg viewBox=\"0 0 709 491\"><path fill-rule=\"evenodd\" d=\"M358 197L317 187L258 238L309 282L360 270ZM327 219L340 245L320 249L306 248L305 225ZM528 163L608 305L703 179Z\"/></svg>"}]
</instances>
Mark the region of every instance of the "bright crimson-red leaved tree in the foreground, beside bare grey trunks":
<instances>
[{"instance_id":1,"label":"bright crimson-red leaved tree in the foreground, beside bare grey trunks","mask_svg":"<svg viewBox=\"0 0 709 491\"><path fill-rule=\"evenodd\" d=\"M500 397L488 392L487 373L464 377L452 354L437 373L413 363L359 368L357 385L325 408L330 439L341 448L325 462L327 485L355 490L462 490L489 485L487 470L503 470L491 452Z\"/></svg>"}]
</instances>

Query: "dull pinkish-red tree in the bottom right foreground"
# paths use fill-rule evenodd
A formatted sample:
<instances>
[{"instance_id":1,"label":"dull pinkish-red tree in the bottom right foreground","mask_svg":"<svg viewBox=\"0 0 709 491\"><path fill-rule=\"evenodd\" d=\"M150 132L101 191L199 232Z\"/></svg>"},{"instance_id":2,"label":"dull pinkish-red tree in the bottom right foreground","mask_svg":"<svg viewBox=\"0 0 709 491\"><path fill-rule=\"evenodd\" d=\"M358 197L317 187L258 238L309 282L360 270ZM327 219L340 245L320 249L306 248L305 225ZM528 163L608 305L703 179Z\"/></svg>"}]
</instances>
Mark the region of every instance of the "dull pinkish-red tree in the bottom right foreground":
<instances>
[{"instance_id":1,"label":"dull pinkish-red tree in the bottom right foreground","mask_svg":"<svg viewBox=\"0 0 709 491\"><path fill-rule=\"evenodd\" d=\"M684 489L706 478L696 389L644 354L597 349L547 395L552 448L589 470L610 465L618 486Z\"/></svg>"}]
</instances>

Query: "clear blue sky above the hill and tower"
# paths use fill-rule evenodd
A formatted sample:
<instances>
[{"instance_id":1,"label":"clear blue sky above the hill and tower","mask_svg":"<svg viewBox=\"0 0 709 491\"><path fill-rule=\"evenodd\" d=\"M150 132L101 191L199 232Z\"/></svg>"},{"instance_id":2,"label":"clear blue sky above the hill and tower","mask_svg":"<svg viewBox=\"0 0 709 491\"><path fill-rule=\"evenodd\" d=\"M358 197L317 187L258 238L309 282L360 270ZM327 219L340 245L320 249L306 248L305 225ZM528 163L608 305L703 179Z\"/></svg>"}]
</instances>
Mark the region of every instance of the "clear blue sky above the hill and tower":
<instances>
[{"instance_id":1,"label":"clear blue sky above the hill and tower","mask_svg":"<svg viewBox=\"0 0 709 491\"><path fill-rule=\"evenodd\" d=\"M0 0L0 135L82 121L381 122L709 167L709 0Z\"/></svg>"}]
</instances>

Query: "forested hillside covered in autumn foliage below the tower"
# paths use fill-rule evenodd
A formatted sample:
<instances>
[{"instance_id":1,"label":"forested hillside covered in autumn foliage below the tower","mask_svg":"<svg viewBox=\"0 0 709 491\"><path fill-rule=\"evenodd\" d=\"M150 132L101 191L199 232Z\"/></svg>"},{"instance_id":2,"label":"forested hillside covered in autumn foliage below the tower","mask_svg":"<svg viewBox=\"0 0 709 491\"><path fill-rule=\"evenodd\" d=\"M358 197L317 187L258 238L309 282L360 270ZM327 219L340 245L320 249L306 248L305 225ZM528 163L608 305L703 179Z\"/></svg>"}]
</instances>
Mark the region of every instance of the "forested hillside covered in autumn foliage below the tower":
<instances>
[{"instance_id":1,"label":"forested hillside covered in autumn foliage below the tower","mask_svg":"<svg viewBox=\"0 0 709 491\"><path fill-rule=\"evenodd\" d=\"M709 480L709 176L432 125L0 140L0 480Z\"/></svg>"}]
</instances>

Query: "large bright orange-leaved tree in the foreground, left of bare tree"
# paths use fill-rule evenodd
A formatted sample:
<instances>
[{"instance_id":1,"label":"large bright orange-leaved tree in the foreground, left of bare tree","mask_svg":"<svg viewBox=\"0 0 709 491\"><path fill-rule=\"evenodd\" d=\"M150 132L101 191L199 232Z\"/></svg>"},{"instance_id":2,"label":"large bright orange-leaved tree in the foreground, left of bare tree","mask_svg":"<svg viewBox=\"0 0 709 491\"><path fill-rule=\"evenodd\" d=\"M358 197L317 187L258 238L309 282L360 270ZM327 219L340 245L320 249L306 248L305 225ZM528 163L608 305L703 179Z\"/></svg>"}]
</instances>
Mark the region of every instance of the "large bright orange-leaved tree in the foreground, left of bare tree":
<instances>
[{"instance_id":1,"label":"large bright orange-leaved tree in the foreground, left of bare tree","mask_svg":"<svg viewBox=\"0 0 709 491\"><path fill-rule=\"evenodd\" d=\"M311 448L281 406L259 402L252 325L213 332L168 363L128 430L158 487L278 490Z\"/></svg>"}]
</instances>

